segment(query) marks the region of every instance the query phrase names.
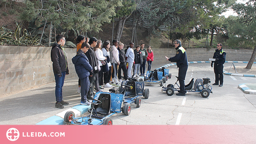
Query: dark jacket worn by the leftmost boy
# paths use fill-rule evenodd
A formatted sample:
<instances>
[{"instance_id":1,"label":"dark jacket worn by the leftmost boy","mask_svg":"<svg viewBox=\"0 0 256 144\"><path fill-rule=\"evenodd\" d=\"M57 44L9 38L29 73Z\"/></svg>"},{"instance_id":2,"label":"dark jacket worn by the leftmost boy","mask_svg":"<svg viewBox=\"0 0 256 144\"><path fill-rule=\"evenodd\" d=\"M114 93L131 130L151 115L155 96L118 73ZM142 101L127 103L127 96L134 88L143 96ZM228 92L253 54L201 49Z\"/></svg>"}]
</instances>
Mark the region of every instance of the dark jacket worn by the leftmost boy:
<instances>
[{"instance_id":1,"label":"dark jacket worn by the leftmost boy","mask_svg":"<svg viewBox=\"0 0 256 144\"><path fill-rule=\"evenodd\" d=\"M67 67L67 56L64 48L61 45L54 43L51 48L51 61L53 62L53 73L62 76L61 72L66 71L69 74Z\"/></svg>"}]
</instances>

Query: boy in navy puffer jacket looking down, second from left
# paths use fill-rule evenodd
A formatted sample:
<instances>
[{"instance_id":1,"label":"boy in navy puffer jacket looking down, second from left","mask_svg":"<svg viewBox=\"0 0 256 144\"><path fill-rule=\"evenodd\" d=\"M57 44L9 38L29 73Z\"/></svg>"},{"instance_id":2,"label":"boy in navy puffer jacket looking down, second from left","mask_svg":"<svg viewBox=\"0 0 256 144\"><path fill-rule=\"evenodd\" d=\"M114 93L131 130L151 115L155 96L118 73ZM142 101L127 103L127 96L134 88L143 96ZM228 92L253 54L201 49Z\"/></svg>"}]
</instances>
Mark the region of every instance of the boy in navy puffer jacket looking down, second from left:
<instances>
[{"instance_id":1,"label":"boy in navy puffer jacket looking down, second from left","mask_svg":"<svg viewBox=\"0 0 256 144\"><path fill-rule=\"evenodd\" d=\"M92 75L92 66L85 53L90 48L88 43L83 42L81 49L76 52L76 56L72 58L72 63L75 64L75 70L81 81L81 102L80 105L90 105L87 101L87 93L90 88L89 76Z\"/></svg>"}]
</instances>

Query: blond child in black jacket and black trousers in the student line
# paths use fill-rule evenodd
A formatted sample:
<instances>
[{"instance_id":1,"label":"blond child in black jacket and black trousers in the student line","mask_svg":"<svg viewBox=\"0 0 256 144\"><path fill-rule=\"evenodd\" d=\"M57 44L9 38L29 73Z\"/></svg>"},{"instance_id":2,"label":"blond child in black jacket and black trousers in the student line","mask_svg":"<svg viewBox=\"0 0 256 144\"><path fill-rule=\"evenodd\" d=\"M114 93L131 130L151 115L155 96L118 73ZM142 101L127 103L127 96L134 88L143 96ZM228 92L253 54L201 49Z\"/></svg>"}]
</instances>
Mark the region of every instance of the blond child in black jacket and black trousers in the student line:
<instances>
[{"instance_id":1,"label":"blond child in black jacket and black trousers in the student line","mask_svg":"<svg viewBox=\"0 0 256 144\"><path fill-rule=\"evenodd\" d=\"M118 79L120 82L122 82L122 78L121 78L121 70L123 69L124 72L124 80L128 79L128 75L127 75L127 67L126 67L126 60L125 60L125 52L124 52L124 44L123 43L119 43L118 44L118 51L119 51L119 61L120 61L120 65L118 67Z\"/></svg>"}]
</instances>

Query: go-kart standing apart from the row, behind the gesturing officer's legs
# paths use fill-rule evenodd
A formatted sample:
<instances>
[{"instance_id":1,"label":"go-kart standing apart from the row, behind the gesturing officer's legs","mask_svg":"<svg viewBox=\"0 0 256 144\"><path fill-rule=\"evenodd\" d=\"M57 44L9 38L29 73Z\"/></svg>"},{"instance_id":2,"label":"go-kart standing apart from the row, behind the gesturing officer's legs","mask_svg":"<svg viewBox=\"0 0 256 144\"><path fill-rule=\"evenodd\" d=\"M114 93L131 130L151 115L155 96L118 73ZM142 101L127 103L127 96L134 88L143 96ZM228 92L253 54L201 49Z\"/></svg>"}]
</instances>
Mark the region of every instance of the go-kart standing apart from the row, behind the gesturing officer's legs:
<instances>
[{"instance_id":1,"label":"go-kart standing apart from the row, behind the gesturing officer's legs","mask_svg":"<svg viewBox=\"0 0 256 144\"><path fill-rule=\"evenodd\" d=\"M177 81L174 85L168 84L167 87L163 86L162 91L165 91L168 96L173 95L174 91L179 92L180 86L178 86L177 82L178 82L178 77L177 77ZM210 93L212 93L212 86L210 86L209 83L211 83L209 78L196 79L195 83L194 83L194 78L193 78L189 82L189 84L185 85L185 90L186 90L186 92L199 92L199 93L201 93L202 97L208 97L210 95ZM175 88L174 87L175 85L177 85L178 88Z\"/></svg>"}]
</instances>

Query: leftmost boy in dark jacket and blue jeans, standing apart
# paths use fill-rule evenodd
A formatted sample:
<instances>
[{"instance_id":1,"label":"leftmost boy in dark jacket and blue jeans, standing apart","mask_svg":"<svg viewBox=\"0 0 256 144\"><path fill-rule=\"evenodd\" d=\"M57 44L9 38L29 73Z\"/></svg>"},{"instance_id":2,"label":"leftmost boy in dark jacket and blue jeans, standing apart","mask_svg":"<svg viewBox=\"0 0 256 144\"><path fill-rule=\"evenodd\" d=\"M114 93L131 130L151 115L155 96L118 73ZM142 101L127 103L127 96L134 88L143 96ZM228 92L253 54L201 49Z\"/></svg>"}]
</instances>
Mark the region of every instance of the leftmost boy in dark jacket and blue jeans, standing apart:
<instances>
[{"instance_id":1,"label":"leftmost boy in dark jacket and blue jeans, standing apart","mask_svg":"<svg viewBox=\"0 0 256 144\"><path fill-rule=\"evenodd\" d=\"M55 107L63 109L63 105L69 105L68 102L63 101L62 87L64 84L65 75L69 74L69 68L67 67L67 55L63 48L66 39L63 35L56 35L57 43L53 44L51 48L51 61L53 62L53 73L56 81L55 86Z\"/></svg>"}]
</instances>

